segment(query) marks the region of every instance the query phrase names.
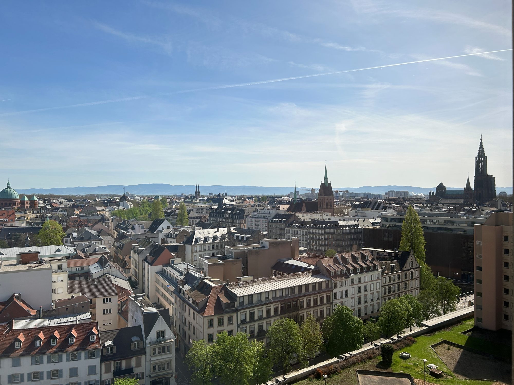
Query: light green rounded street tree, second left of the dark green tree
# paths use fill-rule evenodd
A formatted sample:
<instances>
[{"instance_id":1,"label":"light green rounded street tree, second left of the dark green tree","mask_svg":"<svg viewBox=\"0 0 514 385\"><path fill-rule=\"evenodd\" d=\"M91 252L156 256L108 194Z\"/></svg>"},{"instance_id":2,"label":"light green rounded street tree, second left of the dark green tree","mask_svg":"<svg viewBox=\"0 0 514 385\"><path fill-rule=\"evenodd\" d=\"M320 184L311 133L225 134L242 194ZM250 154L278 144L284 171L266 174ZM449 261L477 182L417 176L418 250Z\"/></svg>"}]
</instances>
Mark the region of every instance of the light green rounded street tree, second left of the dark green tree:
<instances>
[{"instance_id":1,"label":"light green rounded street tree, second left of the dark green tree","mask_svg":"<svg viewBox=\"0 0 514 385\"><path fill-rule=\"evenodd\" d=\"M282 364L284 374L291 368L290 361L306 363L304 343L300 326L290 318L280 318L268 329L269 350L273 365Z\"/></svg>"}]
</instances>

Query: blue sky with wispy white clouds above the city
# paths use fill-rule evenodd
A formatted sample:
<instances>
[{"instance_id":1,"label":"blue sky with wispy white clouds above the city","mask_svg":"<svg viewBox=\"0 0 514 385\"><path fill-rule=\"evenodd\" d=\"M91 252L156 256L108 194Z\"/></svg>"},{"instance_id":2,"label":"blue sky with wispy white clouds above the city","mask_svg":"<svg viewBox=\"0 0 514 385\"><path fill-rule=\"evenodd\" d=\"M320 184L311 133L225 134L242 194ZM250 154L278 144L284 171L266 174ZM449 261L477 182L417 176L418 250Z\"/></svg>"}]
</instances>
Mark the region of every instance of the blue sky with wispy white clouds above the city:
<instances>
[{"instance_id":1,"label":"blue sky with wispy white clouds above the city","mask_svg":"<svg viewBox=\"0 0 514 385\"><path fill-rule=\"evenodd\" d=\"M510 7L4 2L0 180L464 187L483 134L511 186L511 51L249 84L510 49Z\"/></svg>"}]
</instances>

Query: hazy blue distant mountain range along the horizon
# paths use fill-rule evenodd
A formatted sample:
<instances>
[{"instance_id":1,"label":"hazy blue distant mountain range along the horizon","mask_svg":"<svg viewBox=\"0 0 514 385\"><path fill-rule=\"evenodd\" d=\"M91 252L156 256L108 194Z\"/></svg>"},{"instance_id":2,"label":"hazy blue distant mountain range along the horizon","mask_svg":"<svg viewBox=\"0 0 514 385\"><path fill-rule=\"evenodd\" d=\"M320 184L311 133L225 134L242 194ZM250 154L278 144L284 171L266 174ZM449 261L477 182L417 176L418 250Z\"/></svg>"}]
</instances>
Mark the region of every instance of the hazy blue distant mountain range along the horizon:
<instances>
[{"instance_id":1,"label":"hazy blue distant mountain range along the horizon","mask_svg":"<svg viewBox=\"0 0 514 385\"><path fill-rule=\"evenodd\" d=\"M119 184L111 184L106 186L95 187L64 187L64 188L25 188L19 189L17 192L23 194L54 194L54 195L88 195L88 194L106 194L106 195L122 195L123 189L135 195L174 195L174 194L194 194L196 186L194 185L171 185L167 183L143 183L123 186ZM462 188L447 187L449 190L458 190ZM217 195L227 190L228 195L287 195L294 190L294 187L264 187L264 186L200 186L200 193L207 195L212 192ZM298 192L304 194L309 192L310 188L297 187ZM434 187L416 187L416 186L361 186L361 187L335 187L334 190L348 190L350 192L371 192L372 194L385 194L389 190L402 191L408 190L414 194L427 194L429 191L435 191ZM505 191L512 194L512 187L497 187L497 193Z\"/></svg>"}]
</instances>

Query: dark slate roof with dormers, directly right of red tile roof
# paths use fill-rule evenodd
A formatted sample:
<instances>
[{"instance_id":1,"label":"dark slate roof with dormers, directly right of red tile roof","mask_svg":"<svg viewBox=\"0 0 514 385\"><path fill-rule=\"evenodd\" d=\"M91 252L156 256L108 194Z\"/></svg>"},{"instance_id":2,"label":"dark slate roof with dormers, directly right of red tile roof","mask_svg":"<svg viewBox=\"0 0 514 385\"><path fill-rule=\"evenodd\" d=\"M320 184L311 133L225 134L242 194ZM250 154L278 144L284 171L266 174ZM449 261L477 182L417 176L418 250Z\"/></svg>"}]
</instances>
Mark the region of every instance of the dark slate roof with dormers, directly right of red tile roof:
<instances>
[{"instance_id":1,"label":"dark slate roof with dormers, directly right of red tile roof","mask_svg":"<svg viewBox=\"0 0 514 385\"><path fill-rule=\"evenodd\" d=\"M100 361L114 361L121 360L128 357L140 356L145 354L143 333L141 326L130 326L128 328L106 330L100 332L100 343L102 347L105 342L112 341L116 347L116 353L102 354ZM140 341L139 349L131 350L132 342Z\"/></svg>"}]
</instances>

